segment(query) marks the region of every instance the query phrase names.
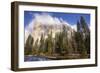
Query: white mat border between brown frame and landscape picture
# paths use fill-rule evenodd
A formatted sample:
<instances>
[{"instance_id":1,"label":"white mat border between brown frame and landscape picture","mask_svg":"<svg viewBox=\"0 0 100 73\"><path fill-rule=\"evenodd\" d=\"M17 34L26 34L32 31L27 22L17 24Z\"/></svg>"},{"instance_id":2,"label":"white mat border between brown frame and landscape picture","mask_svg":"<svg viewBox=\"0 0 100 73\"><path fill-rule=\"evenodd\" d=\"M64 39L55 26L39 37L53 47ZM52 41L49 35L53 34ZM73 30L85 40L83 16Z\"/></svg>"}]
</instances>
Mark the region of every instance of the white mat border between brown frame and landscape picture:
<instances>
[{"instance_id":1,"label":"white mat border between brown frame and landscape picture","mask_svg":"<svg viewBox=\"0 0 100 73\"><path fill-rule=\"evenodd\" d=\"M91 14L91 54L90 59L77 60L60 60L60 61L38 61L38 62L24 62L24 11L49 11L49 12L69 12L69 13L89 13ZM19 68L35 68L35 67L50 67L63 65L83 65L95 64L95 11L93 9L80 8L61 8L61 7L46 7L46 6L19 6L19 54L18 62Z\"/></svg>"}]
</instances>

